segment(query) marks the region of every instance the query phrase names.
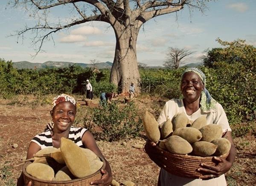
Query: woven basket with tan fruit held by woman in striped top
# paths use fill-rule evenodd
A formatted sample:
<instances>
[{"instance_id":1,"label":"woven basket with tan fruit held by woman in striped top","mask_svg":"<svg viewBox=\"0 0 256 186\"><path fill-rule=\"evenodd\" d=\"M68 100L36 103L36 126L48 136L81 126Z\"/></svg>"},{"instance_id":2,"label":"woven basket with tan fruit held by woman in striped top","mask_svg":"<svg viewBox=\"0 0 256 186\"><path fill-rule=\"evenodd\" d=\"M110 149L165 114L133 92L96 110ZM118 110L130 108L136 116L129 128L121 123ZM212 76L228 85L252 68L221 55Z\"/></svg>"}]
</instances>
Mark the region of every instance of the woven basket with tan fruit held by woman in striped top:
<instances>
[{"instance_id":1,"label":"woven basket with tan fruit held by woman in striped top","mask_svg":"<svg viewBox=\"0 0 256 186\"><path fill-rule=\"evenodd\" d=\"M61 138L59 149L41 149L24 163L22 172L25 184L31 181L32 186L90 186L102 177L104 168L105 160L93 151Z\"/></svg>"}]
</instances>

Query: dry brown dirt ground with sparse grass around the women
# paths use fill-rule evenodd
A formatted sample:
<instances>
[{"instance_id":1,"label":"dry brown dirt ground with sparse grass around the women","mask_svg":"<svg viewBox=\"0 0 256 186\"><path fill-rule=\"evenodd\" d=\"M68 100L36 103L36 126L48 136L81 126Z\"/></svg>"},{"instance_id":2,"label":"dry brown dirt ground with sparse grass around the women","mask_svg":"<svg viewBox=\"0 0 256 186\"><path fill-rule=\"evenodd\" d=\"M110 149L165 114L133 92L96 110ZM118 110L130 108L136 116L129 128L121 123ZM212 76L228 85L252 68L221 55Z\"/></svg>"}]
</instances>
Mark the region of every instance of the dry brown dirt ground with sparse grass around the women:
<instances>
[{"instance_id":1,"label":"dry brown dirt ground with sparse grass around the women","mask_svg":"<svg viewBox=\"0 0 256 186\"><path fill-rule=\"evenodd\" d=\"M81 100L81 97L76 99ZM158 113L166 100L156 99L140 97L136 98L135 102L140 110L149 108L152 112ZM92 105L97 105L98 101L94 99ZM155 103L157 107L154 106ZM77 120L83 118L88 107L82 101L80 104ZM50 108L49 104L42 104L29 96L0 100L0 186L16 184L23 160L26 158L29 141L44 130L50 120ZM144 144L145 138L96 142L111 164L113 178L116 181L122 183L131 180L136 186L157 185L159 167L148 158L143 149L132 147L134 144ZM127 145L125 146L123 142ZM230 186L255 186L256 138L248 135L235 138L234 142L237 156L232 168L226 173L227 183ZM17 144L17 148L14 148L13 144Z\"/></svg>"}]
</instances>

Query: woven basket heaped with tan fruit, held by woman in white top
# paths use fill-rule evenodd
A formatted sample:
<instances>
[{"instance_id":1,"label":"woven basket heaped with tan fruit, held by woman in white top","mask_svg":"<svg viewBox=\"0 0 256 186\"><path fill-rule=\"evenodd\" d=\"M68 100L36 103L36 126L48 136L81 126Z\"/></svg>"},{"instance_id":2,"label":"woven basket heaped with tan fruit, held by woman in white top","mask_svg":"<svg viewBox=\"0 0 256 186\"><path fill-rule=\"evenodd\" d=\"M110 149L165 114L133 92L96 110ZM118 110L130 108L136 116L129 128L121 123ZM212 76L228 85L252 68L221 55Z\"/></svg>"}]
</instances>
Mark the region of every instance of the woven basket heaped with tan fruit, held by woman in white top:
<instances>
[{"instance_id":1,"label":"woven basket heaped with tan fruit, held by woman in white top","mask_svg":"<svg viewBox=\"0 0 256 186\"><path fill-rule=\"evenodd\" d=\"M201 163L216 165L214 156L227 158L230 141L222 138L221 126L207 124L201 116L191 122L185 113L178 113L161 127L154 116L145 112L143 128L148 137L144 146L149 158L167 172L185 178L199 178ZM151 141L156 146L151 145Z\"/></svg>"}]
</instances>

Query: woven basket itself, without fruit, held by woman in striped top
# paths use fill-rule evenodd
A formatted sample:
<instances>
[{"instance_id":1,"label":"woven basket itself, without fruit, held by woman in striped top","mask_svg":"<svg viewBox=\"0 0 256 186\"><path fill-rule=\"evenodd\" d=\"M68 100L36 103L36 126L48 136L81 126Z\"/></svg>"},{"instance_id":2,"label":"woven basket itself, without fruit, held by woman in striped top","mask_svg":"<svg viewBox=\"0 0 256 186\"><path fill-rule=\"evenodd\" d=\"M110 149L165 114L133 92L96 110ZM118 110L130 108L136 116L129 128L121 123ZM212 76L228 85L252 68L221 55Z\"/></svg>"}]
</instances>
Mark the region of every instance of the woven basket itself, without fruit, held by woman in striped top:
<instances>
[{"instance_id":1,"label":"woven basket itself, without fruit, held by woman in striped top","mask_svg":"<svg viewBox=\"0 0 256 186\"><path fill-rule=\"evenodd\" d=\"M101 158L101 161L103 161L103 165L101 169L105 169L106 162L102 158ZM102 174L100 172L101 169L99 169L97 172L93 173L92 175L86 176L84 178L77 178L74 180L67 180L67 181L41 180L29 175L26 172L26 167L30 163L32 162L27 161L22 167L23 179L26 185L29 183L29 181L32 181L32 186L91 186L90 185L91 181L99 180L102 177Z\"/></svg>"}]
</instances>

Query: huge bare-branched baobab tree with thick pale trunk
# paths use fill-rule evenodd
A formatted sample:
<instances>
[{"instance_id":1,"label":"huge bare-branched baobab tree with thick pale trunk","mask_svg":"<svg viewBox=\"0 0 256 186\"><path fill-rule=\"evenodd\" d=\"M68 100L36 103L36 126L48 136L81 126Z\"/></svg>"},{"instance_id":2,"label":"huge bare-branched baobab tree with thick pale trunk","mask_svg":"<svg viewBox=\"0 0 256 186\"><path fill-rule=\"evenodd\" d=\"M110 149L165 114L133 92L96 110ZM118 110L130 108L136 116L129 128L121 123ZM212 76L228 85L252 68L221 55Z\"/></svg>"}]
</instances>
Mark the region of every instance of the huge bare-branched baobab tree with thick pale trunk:
<instances>
[{"instance_id":1,"label":"huge bare-branched baobab tree with thick pale trunk","mask_svg":"<svg viewBox=\"0 0 256 186\"><path fill-rule=\"evenodd\" d=\"M205 8L205 0L12 0L15 7L26 8L31 17L37 19L32 27L25 27L17 32L23 37L28 31L35 34L33 43L38 44L37 52L54 33L74 25L91 21L109 23L115 33L116 48L111 69L110 81L126 92L131 82L139 91L140 73L137 63L136 43L141 26L154 17L180 11L184 6ZM45 16L38 17L40 11L47 12L57 6L70 5L76 14L68 23L50 24ZM71 17L71 15L70 15Z\"/></svg>"}]
</instances>

